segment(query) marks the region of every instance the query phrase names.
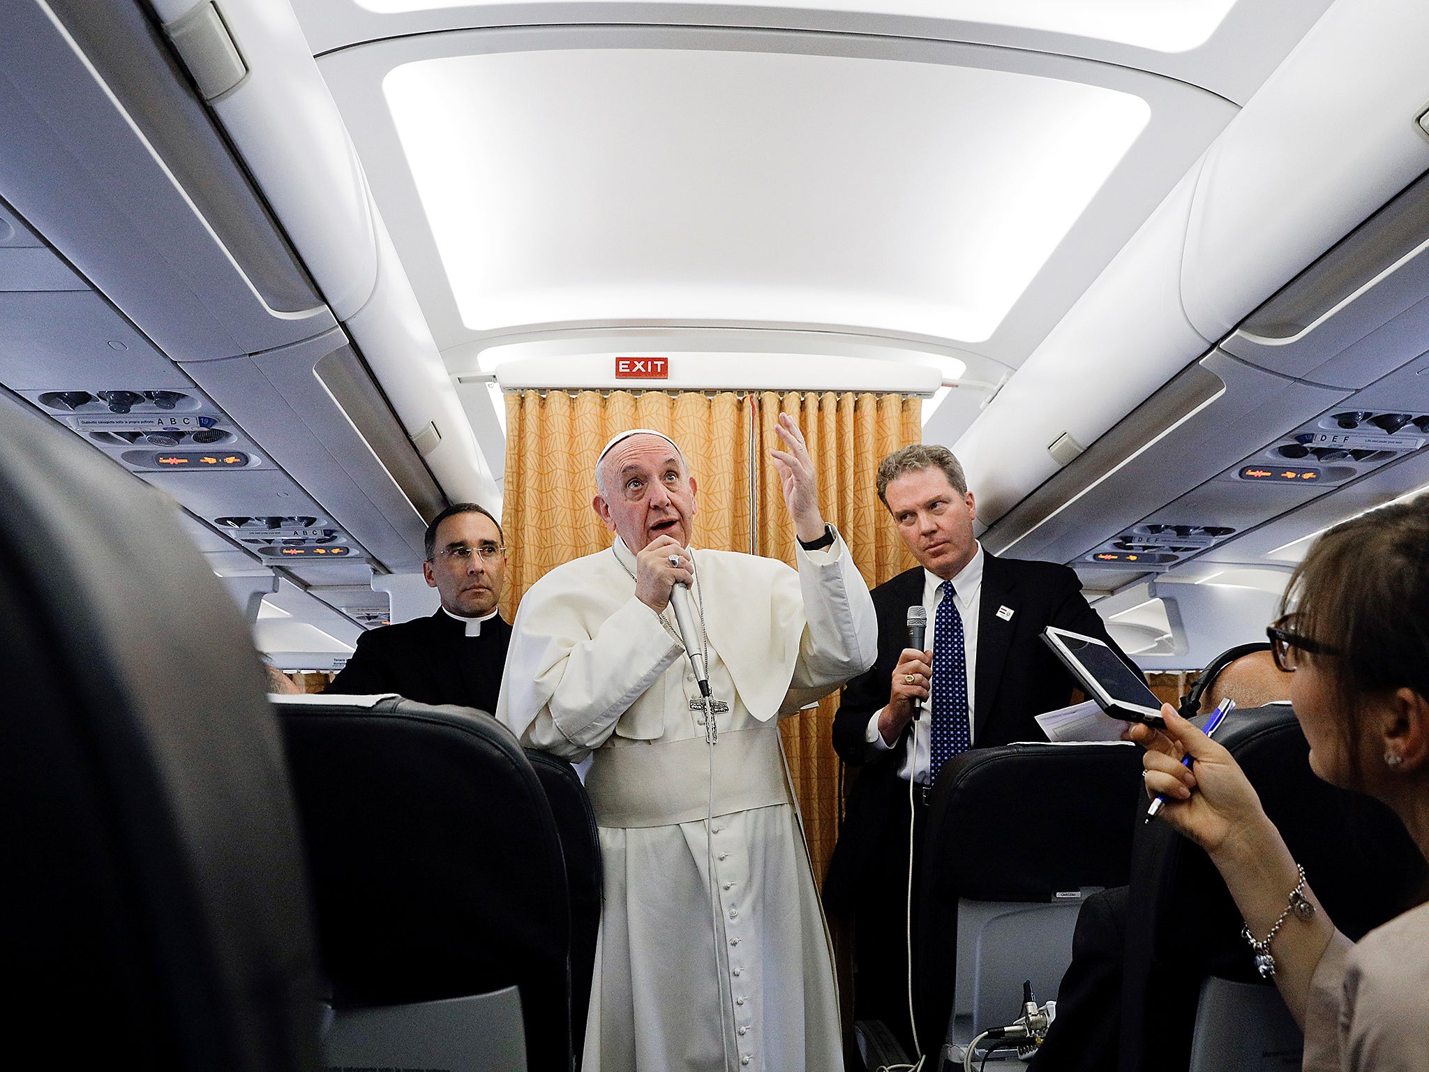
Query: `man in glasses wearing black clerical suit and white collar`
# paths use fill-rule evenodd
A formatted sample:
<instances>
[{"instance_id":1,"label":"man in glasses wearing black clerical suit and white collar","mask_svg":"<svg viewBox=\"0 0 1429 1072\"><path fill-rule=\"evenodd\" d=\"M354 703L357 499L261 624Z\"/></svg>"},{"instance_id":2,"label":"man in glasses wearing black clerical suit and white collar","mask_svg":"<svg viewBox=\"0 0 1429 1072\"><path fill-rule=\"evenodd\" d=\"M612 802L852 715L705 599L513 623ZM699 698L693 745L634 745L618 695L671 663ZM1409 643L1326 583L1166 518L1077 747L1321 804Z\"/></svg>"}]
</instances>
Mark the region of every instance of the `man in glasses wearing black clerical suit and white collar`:
<instances>
[{"instance_id":1,"label":"man in glasses wearing black clerical suit and white collar","mask_svg":"<svg viewBox=\"0 0 1429 1072\"><path fill-rule=\"evenodd\" d=\"M422 573L442 596L430 617L382 626L357 637L357 650L324 693L396 692L422 703L496 710L512 627L496 610L506 579L506 540L476 503L457 503L427 526Z\"/></svg>"}]
</instances>

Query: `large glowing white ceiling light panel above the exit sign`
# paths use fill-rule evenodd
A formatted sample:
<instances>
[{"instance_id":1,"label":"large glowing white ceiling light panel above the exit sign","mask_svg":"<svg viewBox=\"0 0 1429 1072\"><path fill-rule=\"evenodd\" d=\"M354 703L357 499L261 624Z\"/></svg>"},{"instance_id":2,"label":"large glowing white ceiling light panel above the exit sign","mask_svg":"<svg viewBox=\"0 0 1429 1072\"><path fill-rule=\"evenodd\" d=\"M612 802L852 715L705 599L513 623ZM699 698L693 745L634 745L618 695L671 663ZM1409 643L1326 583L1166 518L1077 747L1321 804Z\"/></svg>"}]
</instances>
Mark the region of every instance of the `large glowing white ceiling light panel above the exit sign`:
<instances>
[{"instance_id":1,"label":"large glowing white ceiling light panel above the exit sign","mask_svg":"<svg viewBox=\"0 0 1429 1072\"><path fill-rule=\"evenodd\" d=\"M779 53L456 56L383 90L463 323L987 339L1150 117L1022 73Z\"/></svg>"}]
</instances>

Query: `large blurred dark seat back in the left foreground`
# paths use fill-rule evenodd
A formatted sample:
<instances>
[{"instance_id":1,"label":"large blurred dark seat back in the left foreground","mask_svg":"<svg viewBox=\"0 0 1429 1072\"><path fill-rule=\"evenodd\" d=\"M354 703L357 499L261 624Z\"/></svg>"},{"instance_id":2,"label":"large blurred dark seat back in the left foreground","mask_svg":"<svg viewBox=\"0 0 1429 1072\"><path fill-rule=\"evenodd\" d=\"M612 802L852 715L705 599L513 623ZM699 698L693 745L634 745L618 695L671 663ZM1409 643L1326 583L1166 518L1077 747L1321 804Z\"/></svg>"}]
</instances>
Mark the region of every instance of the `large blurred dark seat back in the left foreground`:
<instances>
[{"instance_id":1,"label":"large blurred dark seat back in the left foreground","mask_svg":"<svg viewBox=\"0 0 1429 1072\"><path fill-rule=\"evenodd\" d=\"M0 407L6 1046L307 1072L314 955L264 675L173 502Z\"/></svg>"}]
</instances>

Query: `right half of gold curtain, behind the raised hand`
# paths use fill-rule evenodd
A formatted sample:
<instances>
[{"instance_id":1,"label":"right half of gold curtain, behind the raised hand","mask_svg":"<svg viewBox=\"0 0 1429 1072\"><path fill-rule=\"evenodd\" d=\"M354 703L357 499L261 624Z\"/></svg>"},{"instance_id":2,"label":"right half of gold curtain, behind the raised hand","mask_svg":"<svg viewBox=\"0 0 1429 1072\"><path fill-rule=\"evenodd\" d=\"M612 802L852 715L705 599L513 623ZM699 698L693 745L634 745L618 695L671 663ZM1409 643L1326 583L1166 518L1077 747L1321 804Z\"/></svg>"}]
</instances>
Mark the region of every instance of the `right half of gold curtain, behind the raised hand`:
<instances>
[{"instance_id":1,"label":"right half of gold curtain, behind the raised hand","mask_svg":"<svg viewBox=\"0 0 1429 1072\"><path fill-rule=\"evenodd\" d=\"M879 502L875 476L885 456L922 440L920 400L833 392L766 392L756 397L756 449L763 459L755 470L757 553L793 565L793 522L785 510L779 473L767 460L769 450L779 445L775 435L779 415L789 413L799 422L819 473L819 510L825 520L837 526L867 586L882 585L913 566L913 556ZM839 695L835 693L817 708L779 723L820 885L839 838L839 756L833 750L837 709Z\"/></svg>"}]
</instances>

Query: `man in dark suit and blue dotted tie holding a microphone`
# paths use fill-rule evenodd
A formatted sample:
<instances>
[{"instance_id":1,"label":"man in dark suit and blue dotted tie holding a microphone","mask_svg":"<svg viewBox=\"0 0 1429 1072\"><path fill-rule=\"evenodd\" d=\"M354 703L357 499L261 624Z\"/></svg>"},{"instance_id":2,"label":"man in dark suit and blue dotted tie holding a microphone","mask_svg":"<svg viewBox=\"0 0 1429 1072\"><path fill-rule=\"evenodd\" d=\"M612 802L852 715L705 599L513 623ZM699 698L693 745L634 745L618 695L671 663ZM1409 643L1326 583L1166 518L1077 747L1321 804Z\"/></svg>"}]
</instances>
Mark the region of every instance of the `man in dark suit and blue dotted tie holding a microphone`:
<instances>
[{"instance_id":1,"label":"man in dark suit and blue dotted tie holding a microphone","mask_svg":"<svg viewBox=\"0 0 1429 1072\"><path fill-rule=\"evenodd\" d=\"M835 749L863 769L823 896L830 912L853 919L856 1019L882 1019L910 1043L909 779L917 823L952 756L1046 739L1033 716L1066 706L1075 682L1042 642L1045 626L1095 636L1126 656L1070 569L982 549L973 496L946 447L915 445L883 459L877 492L919 566L873 589L879 657L849 682L835 716ZM907 647L910 606L926 609L927 650ZM915 720L919 706L926 710ZM917 829L913 838L916 845Z\"/></svg>"}]
</instances>

